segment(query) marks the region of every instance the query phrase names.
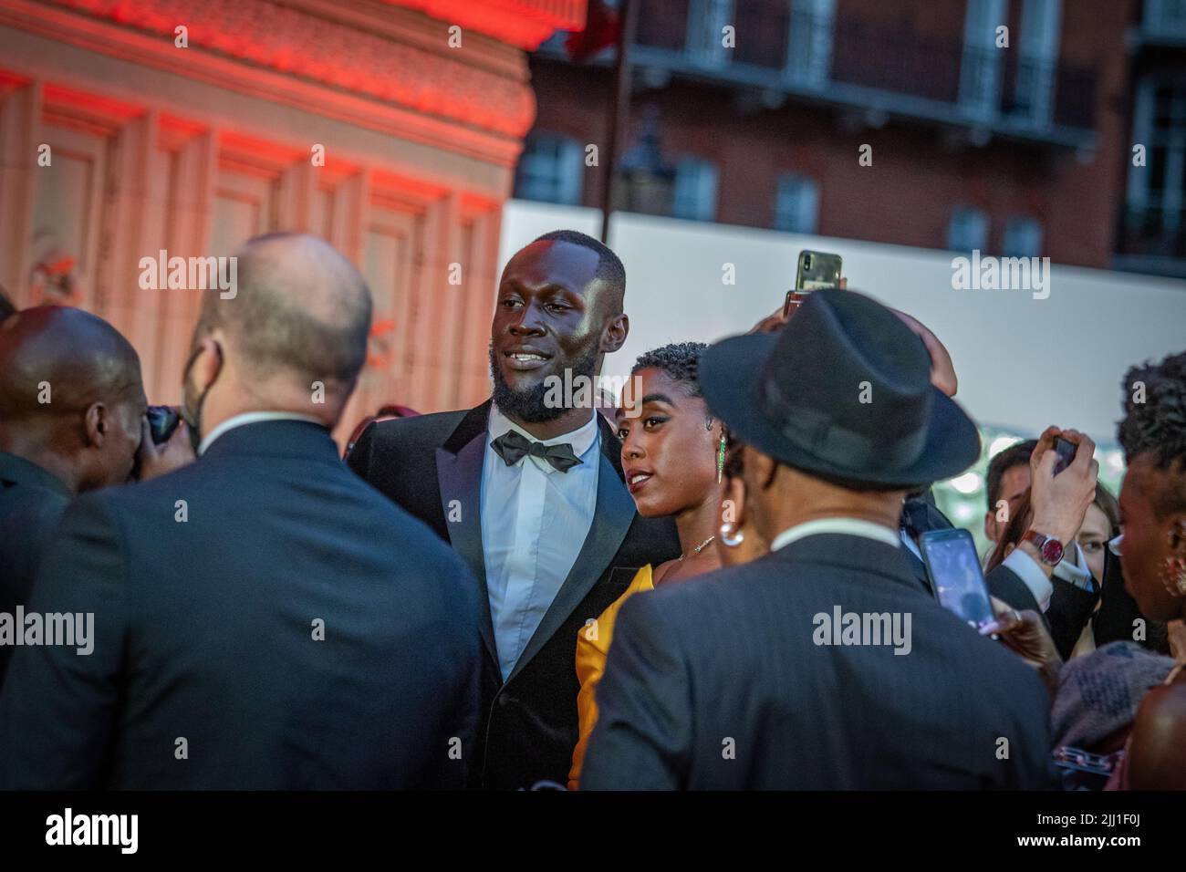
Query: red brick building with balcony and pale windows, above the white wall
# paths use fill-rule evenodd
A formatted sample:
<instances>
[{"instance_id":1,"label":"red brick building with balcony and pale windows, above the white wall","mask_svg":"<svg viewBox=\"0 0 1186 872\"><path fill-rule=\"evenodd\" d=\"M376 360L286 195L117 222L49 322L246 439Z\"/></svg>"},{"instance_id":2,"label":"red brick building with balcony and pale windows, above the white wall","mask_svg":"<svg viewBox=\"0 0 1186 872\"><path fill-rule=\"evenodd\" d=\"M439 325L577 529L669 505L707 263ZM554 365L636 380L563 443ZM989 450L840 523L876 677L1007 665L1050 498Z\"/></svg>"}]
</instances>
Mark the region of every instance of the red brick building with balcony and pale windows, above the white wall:
<instances>
[{"instance_id":1,"label":"red brick building with balcony and pale windows, above the white wall","mask_svg":"<svg viewBox=\"0 0 1186 872\"><path fill-rule=\"evenodd\" d=\"M667 192L630 201L625 184L618 208L1089 267L1186 265L1117 259L1148 4L640 1L624 170ZM1186 18L1167 20L1155 32L1186 32ZM1159 69L1180 77L1172 51ZM584 158L605 152L611 57L569 63L559 38L533 55L538 112L516 196L600 206L602 167Z\"/></svg>"}]
</instances>

